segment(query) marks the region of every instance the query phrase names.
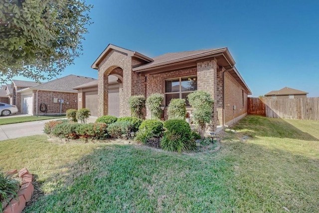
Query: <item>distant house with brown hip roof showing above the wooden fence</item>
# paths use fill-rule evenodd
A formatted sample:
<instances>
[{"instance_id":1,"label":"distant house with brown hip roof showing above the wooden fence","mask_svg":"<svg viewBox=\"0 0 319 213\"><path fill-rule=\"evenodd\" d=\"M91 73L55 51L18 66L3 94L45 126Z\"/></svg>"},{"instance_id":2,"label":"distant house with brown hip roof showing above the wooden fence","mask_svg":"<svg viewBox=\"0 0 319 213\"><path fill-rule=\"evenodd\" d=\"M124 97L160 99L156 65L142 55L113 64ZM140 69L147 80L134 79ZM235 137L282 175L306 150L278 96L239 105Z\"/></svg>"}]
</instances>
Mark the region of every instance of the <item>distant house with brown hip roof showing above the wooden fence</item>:
<instances>
[{"instance_id":1,"label":"distant house with brown hip roof showing above the wooden fence","mask_svg":"<svg viewBox=\"0 0 319 213\"><path fill-rule=\"evenodd\" d=\"M278 99L278 98L307 98L308 92L304 92L298 89L284 87L280 90L273 90L265 95L266 98Z\"/></svg>"}]
</instances>

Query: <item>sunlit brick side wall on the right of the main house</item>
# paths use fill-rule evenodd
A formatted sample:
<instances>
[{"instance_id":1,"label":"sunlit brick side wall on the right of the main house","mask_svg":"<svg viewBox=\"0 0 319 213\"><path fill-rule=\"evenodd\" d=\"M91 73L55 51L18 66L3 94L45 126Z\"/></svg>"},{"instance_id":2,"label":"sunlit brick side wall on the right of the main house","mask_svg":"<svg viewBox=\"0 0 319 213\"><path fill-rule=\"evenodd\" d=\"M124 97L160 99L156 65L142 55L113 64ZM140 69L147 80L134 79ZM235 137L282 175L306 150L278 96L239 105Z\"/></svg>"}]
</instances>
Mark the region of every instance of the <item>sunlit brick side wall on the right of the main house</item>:
<instances>
[{"instance_id":1,"label":"sunlit brick side wall on the right of the main house","mask_svg":"<svg viewBox=\"0 0 319 213\"><path fill-rule=\"evenodd\" d=\"M242 98L242 91L244 91L244 105ZM225 124L233 124L233 118L243 116L247 113L248 95L243 90L241 85L228 73L225 73ZM236 109L233 110L233 106Z\"/></svg>"}]
</instances>

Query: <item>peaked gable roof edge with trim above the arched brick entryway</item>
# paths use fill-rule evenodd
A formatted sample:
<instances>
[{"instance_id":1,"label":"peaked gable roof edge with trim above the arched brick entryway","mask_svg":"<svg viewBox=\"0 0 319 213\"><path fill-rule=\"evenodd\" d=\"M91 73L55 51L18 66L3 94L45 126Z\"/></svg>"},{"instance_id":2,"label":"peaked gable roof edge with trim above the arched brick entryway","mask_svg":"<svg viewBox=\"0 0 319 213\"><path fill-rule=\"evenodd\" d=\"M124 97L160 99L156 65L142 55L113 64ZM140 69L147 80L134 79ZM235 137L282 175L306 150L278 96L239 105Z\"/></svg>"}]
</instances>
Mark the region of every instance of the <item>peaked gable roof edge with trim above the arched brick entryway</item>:
<instances>
[{"instance_id":1,"label":"peaked gable roof edge with trim above the arched brick entryway","mask_svg":"<svg viewBox=\"0 0 319 213\"><path fill-rule=\"evenodd\" d=\"M120 51L120 52L123 52L125 54L127 54L128 56L132 57L137 57L137 58L140 58L146 62L151 62L153 61L152 58L149 58L148 56L145 56L139 52L136 52L136 51L132 51L132 50L129 50L129 49L125 49L125 48L122 48L122 47L119 47L119 46L116 46L116 45L113 45L113 44L109 44L105 49L104 51L99 55L99 57L94 61L94 63L91 65L91 68L93 69L98 69L99 68L99 63L110 53L110 51L114 49L114 50L117 50L117 51Z\"/></svg>"}]
</instances>

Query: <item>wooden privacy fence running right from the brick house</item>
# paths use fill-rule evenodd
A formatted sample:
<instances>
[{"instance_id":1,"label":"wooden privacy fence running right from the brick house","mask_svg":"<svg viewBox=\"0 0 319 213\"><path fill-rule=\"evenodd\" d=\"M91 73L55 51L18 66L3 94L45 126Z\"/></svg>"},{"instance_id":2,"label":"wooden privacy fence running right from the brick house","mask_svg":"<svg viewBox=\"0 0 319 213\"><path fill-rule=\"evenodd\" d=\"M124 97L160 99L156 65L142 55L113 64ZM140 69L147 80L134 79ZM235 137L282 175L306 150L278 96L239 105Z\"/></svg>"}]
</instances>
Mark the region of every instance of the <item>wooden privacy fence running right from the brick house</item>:
<instances>
[{"instance_id":1,"label":"wooden privacy fence running right from the brick house","mask_svg":"<svg viewBox=\"0 0 319 213\"><path fill-rule=\"evenodd\" d=\"M262 109L265 109L265 113ZM268 118L319 121L319 97L295 99L248 98L248 114Z\"/></svg>"}]
</instances>

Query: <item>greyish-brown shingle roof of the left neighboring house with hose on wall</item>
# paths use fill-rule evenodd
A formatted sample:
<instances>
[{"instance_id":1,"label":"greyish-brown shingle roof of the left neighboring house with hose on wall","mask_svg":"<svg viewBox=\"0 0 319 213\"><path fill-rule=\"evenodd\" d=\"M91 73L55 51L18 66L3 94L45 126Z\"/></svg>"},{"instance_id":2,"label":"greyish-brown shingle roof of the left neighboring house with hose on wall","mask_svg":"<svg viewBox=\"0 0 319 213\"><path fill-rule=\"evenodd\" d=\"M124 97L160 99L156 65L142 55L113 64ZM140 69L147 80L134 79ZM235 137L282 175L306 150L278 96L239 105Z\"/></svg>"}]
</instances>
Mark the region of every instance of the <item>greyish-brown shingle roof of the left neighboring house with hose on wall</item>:
<instances>
[{"instance_id":1,"label":"greyish-brown shingle roof of the left neighboring house with hose on wall","mask_svg":"<svg viewBox=\"0 0 319 213\"><path fill-rule=\"evenodd\" d=\"M78 75L67 75L62 78L58 78L46 83L42 83L37 86L33 86L32 89L77 92L77 90L73 89L74 87L92 81L96 81L96 79Z\"/></svg>"}]
</instances>

